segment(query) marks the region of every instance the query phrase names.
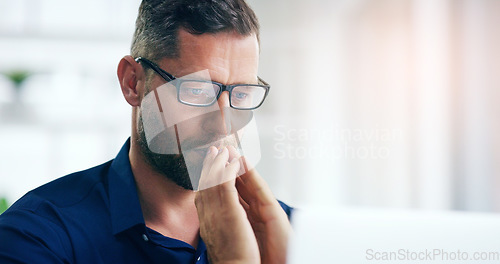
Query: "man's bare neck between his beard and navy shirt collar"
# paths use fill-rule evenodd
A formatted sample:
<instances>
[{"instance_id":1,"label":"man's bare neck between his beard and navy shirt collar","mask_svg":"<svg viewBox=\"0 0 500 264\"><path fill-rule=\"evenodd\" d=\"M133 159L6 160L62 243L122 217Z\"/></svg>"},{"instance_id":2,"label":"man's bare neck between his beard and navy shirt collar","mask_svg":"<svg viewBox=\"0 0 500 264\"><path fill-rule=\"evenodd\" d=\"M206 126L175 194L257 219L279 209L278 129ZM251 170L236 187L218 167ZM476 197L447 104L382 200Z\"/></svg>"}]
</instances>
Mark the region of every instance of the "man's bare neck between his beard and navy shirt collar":
<instances>
[{"instance_id":1,"label":"man's bare neck between his beard and navy shirt collar","mask_svg":"<svg viewBox=\"0 0 500 264\"><path fill-rule=\"evenodd\" d=\"M146 226L196 247L199 222L194 205L195 193L152 169L133 139L129 158Z\"/></svg>"}]
</instances>

